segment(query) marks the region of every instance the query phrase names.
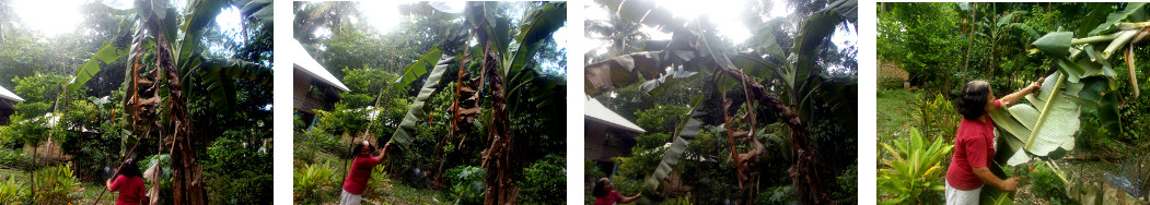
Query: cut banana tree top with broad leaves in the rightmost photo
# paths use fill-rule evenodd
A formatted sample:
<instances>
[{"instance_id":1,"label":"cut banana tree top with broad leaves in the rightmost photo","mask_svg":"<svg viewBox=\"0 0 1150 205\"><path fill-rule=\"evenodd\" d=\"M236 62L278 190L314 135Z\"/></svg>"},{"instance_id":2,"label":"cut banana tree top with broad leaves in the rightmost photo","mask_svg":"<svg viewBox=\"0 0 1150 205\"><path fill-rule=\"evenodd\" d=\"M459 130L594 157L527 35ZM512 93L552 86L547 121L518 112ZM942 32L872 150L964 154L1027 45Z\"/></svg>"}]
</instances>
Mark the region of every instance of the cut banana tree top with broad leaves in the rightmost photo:
<instances>
[{"instance_id":1,"label":"cut banana tree top with broad leaves in the rightmost photo","mask_svg":"<svg viewBox=\"0 0 1150 205\"><path fill-rule=\"evenodd\" d=\"M1074 38L1074 32L1057 31L1046 33L1033 42L1032 53L1043 53L1057 66L1037 94L1026 95L1027 102L997 109L990 112L1000 136L999 151L996 161L1007 165L1020 165L1034 158L1057 159L1074 149L1074 137L1080 133L1082 116L1094 116L1105 132L1120 132L1118 119L1118 94L1112 90L1110 80L1116 76L1112 61L1113 54L1125 53L1127 69L1134 86L1134 95L1138 95L1137 76L1134 70L1135 56L1133 49L1150 36L1148 23L1127 23L1124 21L1147 21L1144 2L1128 3L1124 10L1109 14L1099 24L1086 27L1086 32ZM1110 8L1110 7L1096 7ZM1096 10L1099 11L1099 10ZM1105 10L1101 10L1105 11ZM1101 16L1097 16L1101 17ZM1087 21L1090 22L1090 21ZM1059 173L1060 176L1060 173ZM1082 203L1101 200L1105 188L1087 188L1081 181L1063 181L1068 196ZM1084 192L1083 192L1084 191ZM1006 198L1004 194L989 194L995 198Z\"/></svg>"}]
</instances>

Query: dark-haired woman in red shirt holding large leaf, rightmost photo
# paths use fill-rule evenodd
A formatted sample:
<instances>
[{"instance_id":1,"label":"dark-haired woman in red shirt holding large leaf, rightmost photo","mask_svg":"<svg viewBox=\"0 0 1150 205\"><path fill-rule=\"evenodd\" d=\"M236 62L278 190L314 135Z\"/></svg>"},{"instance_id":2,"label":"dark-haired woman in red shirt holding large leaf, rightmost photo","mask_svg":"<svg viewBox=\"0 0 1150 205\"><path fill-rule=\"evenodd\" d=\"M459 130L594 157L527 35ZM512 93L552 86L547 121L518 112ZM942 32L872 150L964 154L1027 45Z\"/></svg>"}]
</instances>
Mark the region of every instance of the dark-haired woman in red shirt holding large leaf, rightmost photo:
<instances>
[{"instance_id":1,"label":"dark-haired woman in red shirt holding large leaf, rightmost photo","mask_svg":"<svg viewBox=\"0 0 1150 205\"><path fill-rule=\"evenodd\" d=\"M946 169L946 204L979 204L979 192L983 184L990 184L1002 190L1014 191L1018 179L998 179L990 173L991 157L995 156L995 126L987 112L1013 105L1026 94L1035 93L1042 81L1030 84L1026 88L996 100L990 84L975 80L966 84L954 102L954 110L963 115L954 137L954 155Z\"/></svg>"}]
</instances>

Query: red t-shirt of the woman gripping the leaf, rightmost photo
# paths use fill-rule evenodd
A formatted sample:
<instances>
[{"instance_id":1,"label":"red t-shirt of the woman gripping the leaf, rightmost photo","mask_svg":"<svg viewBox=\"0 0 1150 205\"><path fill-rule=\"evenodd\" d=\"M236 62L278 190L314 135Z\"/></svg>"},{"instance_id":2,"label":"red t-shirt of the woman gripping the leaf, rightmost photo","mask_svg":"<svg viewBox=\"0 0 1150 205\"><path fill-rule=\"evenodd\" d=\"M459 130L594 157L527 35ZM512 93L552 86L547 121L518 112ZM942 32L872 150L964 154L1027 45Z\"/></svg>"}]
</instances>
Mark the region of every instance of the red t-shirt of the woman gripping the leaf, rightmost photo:
<instances>
[{"instance_id":1,"label":"red t-shirt of the woman gripping the leaf, rightmost photo","mask_svg":"<svg viewBox=\"0 0 1150 205\"><path fill-rule=\"evenodd\" d=\"M995 108L1003 103L995 100ZM982 179L974 175L974 167L987 167L995 156L995 123L990 116L983 116L986 123L963 118L958 124L954 137L954 156L946 168L946 183L959 190L973 190L982 187Z\"/></svg>"}]
</instances>

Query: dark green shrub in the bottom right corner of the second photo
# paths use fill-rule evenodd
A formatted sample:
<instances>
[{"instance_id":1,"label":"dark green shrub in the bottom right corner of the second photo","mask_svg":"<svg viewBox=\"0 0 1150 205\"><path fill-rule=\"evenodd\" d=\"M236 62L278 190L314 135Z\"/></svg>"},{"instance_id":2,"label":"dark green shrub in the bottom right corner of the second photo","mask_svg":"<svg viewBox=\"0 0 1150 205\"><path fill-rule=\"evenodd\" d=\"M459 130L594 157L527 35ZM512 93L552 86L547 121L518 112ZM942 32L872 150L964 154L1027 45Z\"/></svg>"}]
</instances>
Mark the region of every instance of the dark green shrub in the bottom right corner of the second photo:
<instances>
[{"instance_id":1,"label":"dark green shrub in the bottom right corner of the second photo","mask_svg":"<svg viewBox=\"0 0 1150 205\"><path fill-rule=\"evenodd\" d=\"M561 153L552 153L523 168L523 179L516 182L522 202L562 204L567 200L567 165L564 161Z\"/></svg>"}]
</instances>

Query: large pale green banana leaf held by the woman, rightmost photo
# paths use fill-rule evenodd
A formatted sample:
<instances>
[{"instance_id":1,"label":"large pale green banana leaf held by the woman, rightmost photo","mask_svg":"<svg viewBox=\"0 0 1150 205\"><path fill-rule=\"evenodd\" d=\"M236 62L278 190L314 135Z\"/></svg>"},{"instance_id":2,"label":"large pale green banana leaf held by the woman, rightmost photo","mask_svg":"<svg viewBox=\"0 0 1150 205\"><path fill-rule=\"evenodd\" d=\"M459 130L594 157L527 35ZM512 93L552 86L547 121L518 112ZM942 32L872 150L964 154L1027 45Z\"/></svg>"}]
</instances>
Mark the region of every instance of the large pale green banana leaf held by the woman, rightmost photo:
<instances>
[{"instance_id":1,"label":"large pale green banana leaf held by the woman, rightmost photo","mask_svg":"<svg viewBox=\"0 0 1150 205\"><path fill-rule=\"evenodd\" d=\"M1057 149L1073 150L1074 135L1079 131L1081 111L1067 96L1075 95L1081 86L1066 86L1067 77L1055 72L1046 77L1038 95L1026 96L1029 104L1019 103L1010 108L996 109L990 112L1002 135L1007 143L999 144L999 152L1012 151L1009 165L1027 163L1034 156L1045 157ZM1078 87L1073 90L1067 87Z\"/></svg>"}]
</instances>

